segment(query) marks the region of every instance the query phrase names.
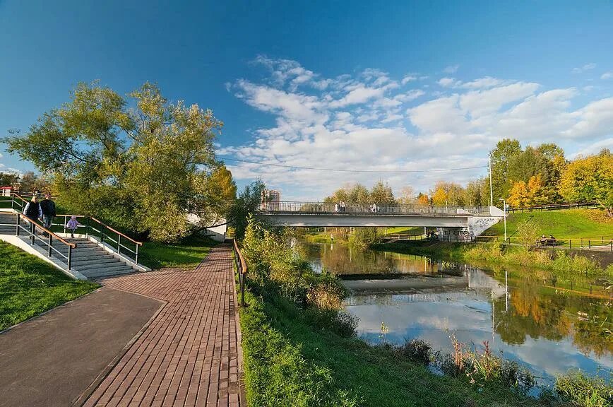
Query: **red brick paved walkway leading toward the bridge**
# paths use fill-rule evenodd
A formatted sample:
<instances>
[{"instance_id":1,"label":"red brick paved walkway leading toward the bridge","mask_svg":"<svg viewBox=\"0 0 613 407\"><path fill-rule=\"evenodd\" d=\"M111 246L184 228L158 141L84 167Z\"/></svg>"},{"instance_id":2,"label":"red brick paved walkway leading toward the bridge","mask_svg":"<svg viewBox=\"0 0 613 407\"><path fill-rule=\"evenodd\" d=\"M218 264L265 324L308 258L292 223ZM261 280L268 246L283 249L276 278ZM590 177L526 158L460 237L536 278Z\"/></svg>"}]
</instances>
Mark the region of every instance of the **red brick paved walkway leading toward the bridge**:
<instances>
[{"instance_id":1,"label":"red brick paved walkway leading toward the bridge","mask_svg":"<svg viewBox=\"0 0 613 407\"><path fill-rule=\"evenodd\" d=\"M240 331L230 247L192 271L109 278L167 304L84 406L241 406Z\"/></svg>"}]
</instances>

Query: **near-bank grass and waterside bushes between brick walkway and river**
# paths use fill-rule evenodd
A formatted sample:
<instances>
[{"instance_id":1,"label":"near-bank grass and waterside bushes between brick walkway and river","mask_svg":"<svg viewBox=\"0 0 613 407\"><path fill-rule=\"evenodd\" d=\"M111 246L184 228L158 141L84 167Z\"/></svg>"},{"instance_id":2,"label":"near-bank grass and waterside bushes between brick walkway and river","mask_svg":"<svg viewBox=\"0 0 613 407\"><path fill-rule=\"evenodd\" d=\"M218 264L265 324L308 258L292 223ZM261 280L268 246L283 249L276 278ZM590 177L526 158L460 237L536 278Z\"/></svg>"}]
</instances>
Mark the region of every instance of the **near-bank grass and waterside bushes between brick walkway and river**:
<instances>
[{"instance_id":1,"label":"near-bank grass and waterside bushes between brick walkway and river","mask_svg":"<svg viewBox=\"0 0 613 407\"><path fill-rule=\"evenodd\" d=\"M598 406L613 392L604 380L569 372L537 388L522 367L487 343L455 341L433 353L424 341L371 346L342 309L345 288L316 274L300 254L250 220L242 242L249 264L241 309L246 395L251 406ZM436 374L435 372L439 372ZM436 391L433 391L436 389ZM538 398L530 396L537 389Z\"/></svg>"}]
</instances>

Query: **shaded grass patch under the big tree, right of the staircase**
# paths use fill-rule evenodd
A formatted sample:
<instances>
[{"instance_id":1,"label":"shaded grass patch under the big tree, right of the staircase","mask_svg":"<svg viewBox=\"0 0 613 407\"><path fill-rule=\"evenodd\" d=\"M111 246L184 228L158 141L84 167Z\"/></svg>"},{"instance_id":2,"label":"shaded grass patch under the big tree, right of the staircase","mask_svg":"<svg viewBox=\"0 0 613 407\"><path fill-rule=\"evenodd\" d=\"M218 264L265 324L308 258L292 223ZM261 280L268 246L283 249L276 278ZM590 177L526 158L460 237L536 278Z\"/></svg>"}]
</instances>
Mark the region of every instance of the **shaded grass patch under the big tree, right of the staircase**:
<instances>
[{"instance_id":1,"label":"shaded grass patch under the big tree, right of the staircase","mask_svg":"<svg viewBox=\"0 0 613 407\"><path fill-rule=\"evenodd\" d=\"M184 242L166 244L145 242L138 250L138 261L151 269L195 267L218 243L206 237L192 236Z\"/></svg>"}]
</instances>

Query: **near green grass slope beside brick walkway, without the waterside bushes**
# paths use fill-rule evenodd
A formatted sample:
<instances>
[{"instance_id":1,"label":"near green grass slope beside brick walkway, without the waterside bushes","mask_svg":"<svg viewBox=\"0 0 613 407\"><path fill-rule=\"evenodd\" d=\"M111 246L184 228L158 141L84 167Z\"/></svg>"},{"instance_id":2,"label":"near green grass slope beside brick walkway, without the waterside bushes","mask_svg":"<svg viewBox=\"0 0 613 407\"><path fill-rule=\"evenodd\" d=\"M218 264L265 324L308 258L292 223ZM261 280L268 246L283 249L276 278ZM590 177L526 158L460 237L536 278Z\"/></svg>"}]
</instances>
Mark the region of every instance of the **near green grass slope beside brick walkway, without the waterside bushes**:
<instances>
[{"instance_id":1,"label":"near green grass slope beside brick walkway, without the waterside bushes","mask_svg":"<svg viewBox=\"0 0 613 407\"><path fill-rule=\"evenodd\" d=\"M530 406L500 388L479 391L389 350L313 329L279 297L248 295L241 309L251 406Z\"/></svg>"}]
</instances>

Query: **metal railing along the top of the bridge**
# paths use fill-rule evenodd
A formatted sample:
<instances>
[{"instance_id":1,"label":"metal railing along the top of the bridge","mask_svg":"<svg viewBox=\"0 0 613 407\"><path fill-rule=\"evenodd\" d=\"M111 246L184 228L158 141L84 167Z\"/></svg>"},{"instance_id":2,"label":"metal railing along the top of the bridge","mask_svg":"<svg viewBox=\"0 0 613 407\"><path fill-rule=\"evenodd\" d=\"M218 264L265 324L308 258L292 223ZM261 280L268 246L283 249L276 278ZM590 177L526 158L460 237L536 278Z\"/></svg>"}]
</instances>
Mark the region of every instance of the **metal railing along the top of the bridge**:
<instances>
[{"instance_id":1,"label":"metal railing along the top of the bridge","mask_svg":"<svg viewBox=\"0 0 613 407\"><path fill-rule=\"evenodd\" d=\"M340 214L340 215L479 215L489 216L488 206L433 206L415 204L331 204L326 202L280 201L263 202L258 207L259 213L295 213L305 215Z\"/></svg>"}]
</instances>

